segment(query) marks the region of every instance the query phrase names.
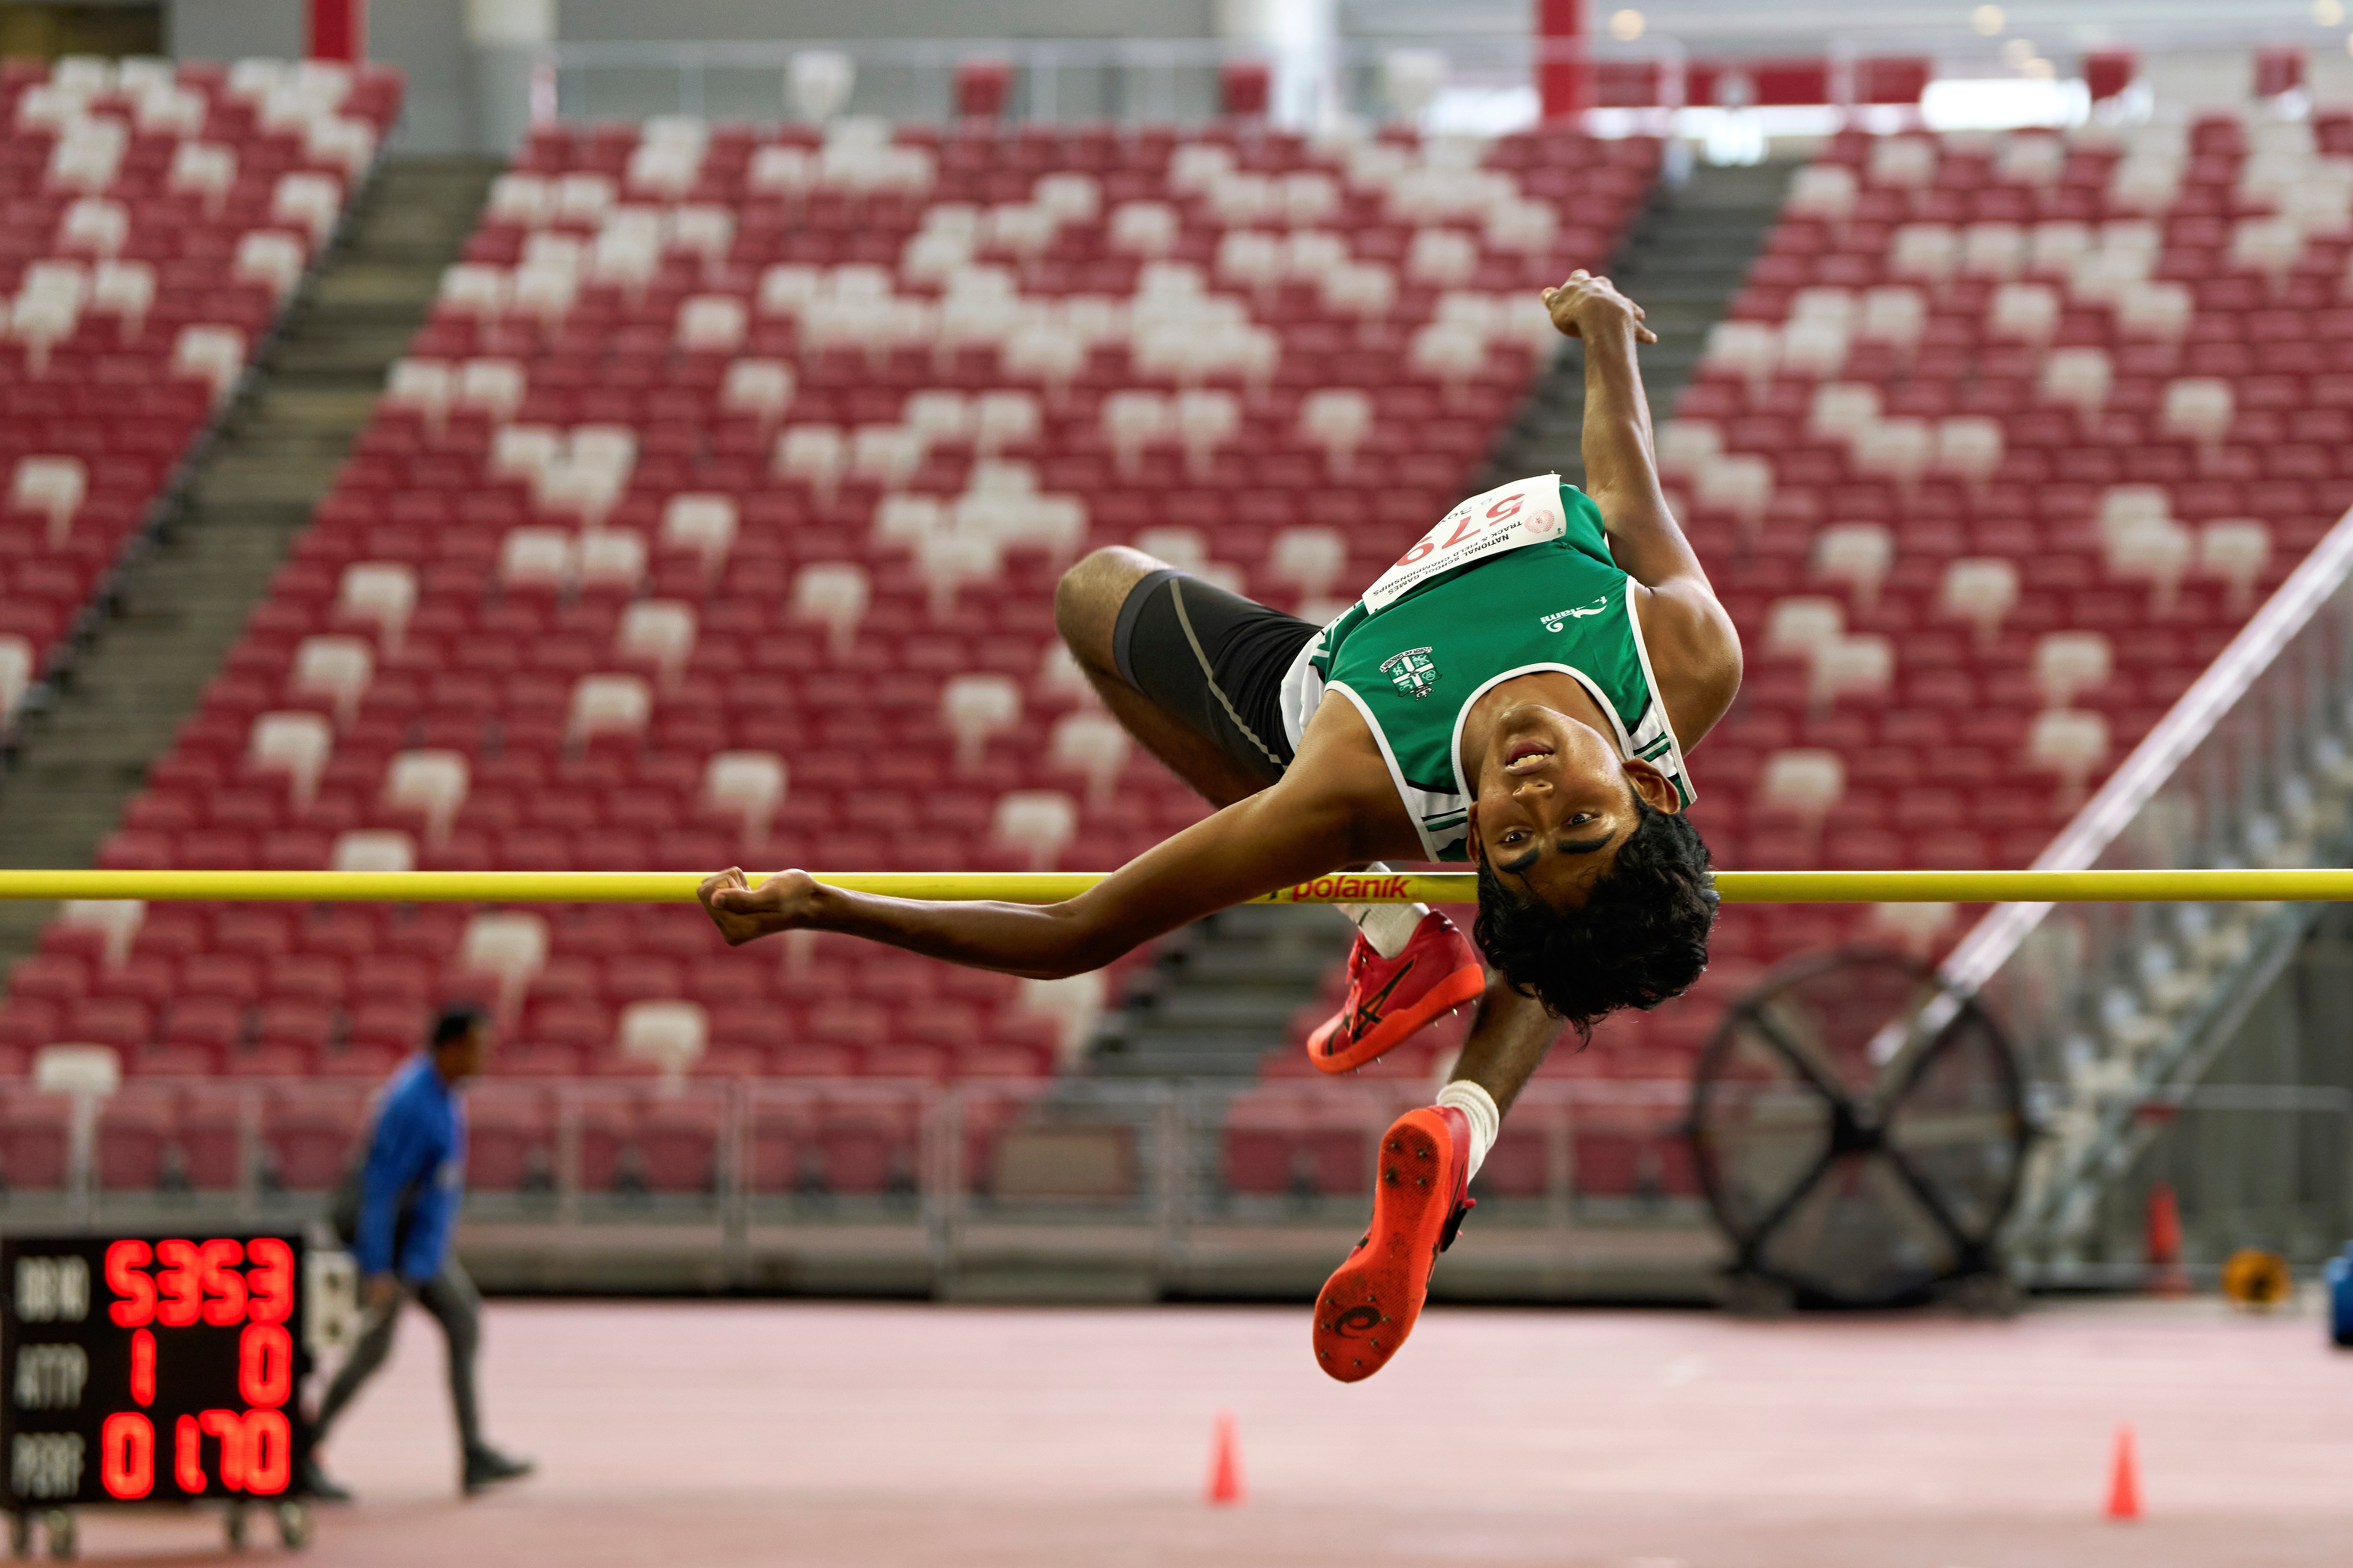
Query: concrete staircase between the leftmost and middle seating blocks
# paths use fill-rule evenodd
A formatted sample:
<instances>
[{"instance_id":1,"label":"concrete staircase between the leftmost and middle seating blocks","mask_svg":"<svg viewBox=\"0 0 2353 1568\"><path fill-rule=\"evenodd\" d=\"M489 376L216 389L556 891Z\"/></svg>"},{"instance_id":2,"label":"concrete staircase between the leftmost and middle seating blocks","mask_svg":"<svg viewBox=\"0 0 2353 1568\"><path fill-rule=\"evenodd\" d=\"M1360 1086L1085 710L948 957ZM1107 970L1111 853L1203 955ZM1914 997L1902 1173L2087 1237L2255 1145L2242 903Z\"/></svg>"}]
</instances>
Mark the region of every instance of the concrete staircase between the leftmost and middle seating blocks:
<instances>
[{"instance_id":1,"label":"concrete staircase between the leftmost and middle seating blocks","mask_svg":"<svg viewBox=\"0 0 2353 1568\"><path fill-rule=\"evenodd\" d=\"M16 766L0 778L0 865L92 863L334 482L496 169L442 158L376 169L169 522L125 574L118 614L24 724ZM49 910L0 903L0 964L31 952Z\"/></svg>"}]
</instances>

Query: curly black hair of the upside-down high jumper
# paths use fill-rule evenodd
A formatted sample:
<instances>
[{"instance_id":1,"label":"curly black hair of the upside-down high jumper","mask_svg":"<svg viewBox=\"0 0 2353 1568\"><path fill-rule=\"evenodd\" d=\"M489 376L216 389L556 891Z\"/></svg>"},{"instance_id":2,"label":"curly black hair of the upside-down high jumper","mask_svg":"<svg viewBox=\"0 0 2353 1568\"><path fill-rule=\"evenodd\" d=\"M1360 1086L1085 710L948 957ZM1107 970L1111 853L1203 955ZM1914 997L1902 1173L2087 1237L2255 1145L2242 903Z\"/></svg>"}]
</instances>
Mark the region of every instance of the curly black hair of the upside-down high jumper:
<instances>
[{"instance_id":1,"label":"curly black hair of the upside-down high jumper","mask_svg":"<svg viewBox=\"0 0 2353 1568\"><path fill-rule=\"evenodd\" d=\"M1478 860L1478 922L1471 933L1487 961L1522 997L1534 997L1579 1039L1621 1006L1652 1009L1680 997L1708 966L1715 882L1708 846L1682 816L1633 795L1635 827L1609 875L1579 910L1504 886Z\"/></svg>"}]
</instances>

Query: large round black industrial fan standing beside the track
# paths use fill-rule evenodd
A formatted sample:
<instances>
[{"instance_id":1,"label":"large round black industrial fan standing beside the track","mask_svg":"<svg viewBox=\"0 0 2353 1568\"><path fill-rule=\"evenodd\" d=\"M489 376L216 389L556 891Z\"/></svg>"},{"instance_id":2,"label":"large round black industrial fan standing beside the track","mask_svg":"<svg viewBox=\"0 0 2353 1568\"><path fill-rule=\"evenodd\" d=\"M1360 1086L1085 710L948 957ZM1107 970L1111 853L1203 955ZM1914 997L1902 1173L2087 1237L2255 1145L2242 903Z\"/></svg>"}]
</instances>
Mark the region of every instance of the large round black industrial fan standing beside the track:
<instances>
[{"instance_id":1,"label":"large round black industrial fan standing beside the track","mask_svg":"<svg viewBox=\"0 0 2353 1568\"><path fill-rule=\"evenodd\" d=\"M1889 952L1777 966L1699 1058L1689 1126L1732 1237L1734 1305L2007 1298L1993 1239L2026 1164L2019 1067L1929 966Z\"/></svg>"}]
</instances>

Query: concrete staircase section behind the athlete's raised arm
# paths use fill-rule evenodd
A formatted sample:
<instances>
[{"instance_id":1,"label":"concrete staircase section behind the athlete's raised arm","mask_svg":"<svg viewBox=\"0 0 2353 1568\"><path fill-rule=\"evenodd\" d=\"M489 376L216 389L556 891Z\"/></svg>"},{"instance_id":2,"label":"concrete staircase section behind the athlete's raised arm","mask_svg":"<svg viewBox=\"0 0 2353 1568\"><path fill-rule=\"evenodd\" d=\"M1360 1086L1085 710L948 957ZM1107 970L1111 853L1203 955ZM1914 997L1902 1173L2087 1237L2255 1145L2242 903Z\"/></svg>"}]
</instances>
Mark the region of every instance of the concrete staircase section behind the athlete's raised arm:
<instances>
[{"instance_id":1,"label":"concrete staircase section behind the athlete's raised arm","mask_svg":"<svg viewBox=\"0 0 2353 1568\"><path fill-rule=\"evenodd\" d=\"M1781 214L1795 162L1746 169L1699 165L1682 186L1659 186L1626 247L1609 263L1609 280L1642 310L1659 334L1642 348L1642 388L1652 418L1664 421L1692 378L1708 327L1722 320L1741 277ZM1579 433L1586 418L1586 360L1569 339L1553 369L1537 381L1520 416L1497 447L1475 489L1558 468L1584 484Z\"/></svg>"}]
</instances>

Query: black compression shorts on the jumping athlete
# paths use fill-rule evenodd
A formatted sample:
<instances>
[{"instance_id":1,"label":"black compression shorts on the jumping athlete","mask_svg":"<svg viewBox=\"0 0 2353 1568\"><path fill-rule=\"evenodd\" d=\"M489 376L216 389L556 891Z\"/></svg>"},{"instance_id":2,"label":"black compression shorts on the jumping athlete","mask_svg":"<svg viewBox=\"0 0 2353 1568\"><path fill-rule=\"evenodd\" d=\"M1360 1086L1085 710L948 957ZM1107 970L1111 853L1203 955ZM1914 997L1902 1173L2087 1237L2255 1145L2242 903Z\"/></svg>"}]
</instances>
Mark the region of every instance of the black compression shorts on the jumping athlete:
<instances>
[{"instance_id":1,"label":"black compression shorts on the jumping athlete","mask_svg":"<svg viewBox=\"0 0 2353 1568\"><path fill-rule=\"evenodd\" d=\"M1120 604L1111 654L1120 679L1273 783L1292 764L1282 677L1318 630L1186 571L1160 569Z\"/></svg>"}]
</instances>

